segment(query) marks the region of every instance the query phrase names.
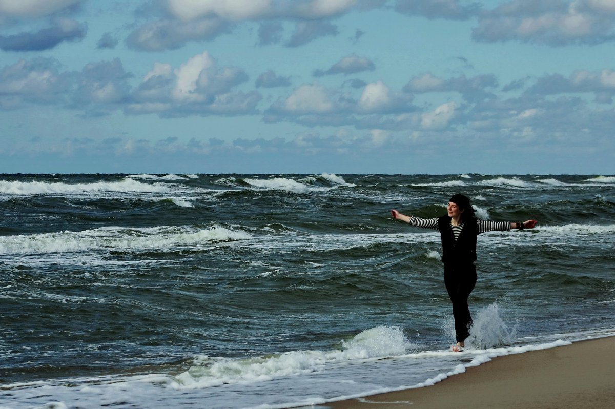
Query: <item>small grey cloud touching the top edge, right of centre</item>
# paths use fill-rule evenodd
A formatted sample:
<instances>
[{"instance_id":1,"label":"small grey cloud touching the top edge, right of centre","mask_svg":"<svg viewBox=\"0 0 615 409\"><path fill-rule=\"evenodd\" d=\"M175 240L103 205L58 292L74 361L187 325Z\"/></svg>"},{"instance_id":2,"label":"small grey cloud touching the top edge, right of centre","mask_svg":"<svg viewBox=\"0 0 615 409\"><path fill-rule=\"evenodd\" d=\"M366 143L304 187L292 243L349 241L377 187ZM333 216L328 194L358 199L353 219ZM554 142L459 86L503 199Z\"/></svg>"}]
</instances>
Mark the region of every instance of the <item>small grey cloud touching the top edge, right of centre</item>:
<instances>
[{"instance_id":1,"label":"small grey cloud touching the top edge, right of centre","mask_svg":"<svg viewBox=\"0 0 615 409\"><path fill-rule=\"evenodd\" d=\"M397 0L395 10L402 14L448 20L467 20L480 11L478 2L463 6L459 0Z\"/></svg>"}]
</instances>

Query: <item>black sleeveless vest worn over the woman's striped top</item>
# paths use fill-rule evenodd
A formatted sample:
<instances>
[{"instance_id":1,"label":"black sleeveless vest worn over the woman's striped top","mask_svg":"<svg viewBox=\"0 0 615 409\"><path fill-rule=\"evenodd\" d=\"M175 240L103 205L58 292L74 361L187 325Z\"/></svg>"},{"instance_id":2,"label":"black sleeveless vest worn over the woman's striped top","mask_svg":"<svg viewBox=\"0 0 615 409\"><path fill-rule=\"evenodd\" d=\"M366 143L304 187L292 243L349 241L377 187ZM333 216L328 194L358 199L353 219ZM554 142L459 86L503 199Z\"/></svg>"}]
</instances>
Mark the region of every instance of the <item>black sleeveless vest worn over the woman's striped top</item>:
<instances>
[{"instance_id":1,"label":"black sleeveless vest worn over the woman's striped top","mask_svg":"<svg viewBox=\"0 0 615 409\"><path fill-rule=\"evenodd\" d=\"M451 218L448 215L438 218L438 230L442 238L443 263L472 264L476 261L478 228L474 217L464 222L457 242L455 242L453 229L451 229Z\"/></svg>"}]
</instances>

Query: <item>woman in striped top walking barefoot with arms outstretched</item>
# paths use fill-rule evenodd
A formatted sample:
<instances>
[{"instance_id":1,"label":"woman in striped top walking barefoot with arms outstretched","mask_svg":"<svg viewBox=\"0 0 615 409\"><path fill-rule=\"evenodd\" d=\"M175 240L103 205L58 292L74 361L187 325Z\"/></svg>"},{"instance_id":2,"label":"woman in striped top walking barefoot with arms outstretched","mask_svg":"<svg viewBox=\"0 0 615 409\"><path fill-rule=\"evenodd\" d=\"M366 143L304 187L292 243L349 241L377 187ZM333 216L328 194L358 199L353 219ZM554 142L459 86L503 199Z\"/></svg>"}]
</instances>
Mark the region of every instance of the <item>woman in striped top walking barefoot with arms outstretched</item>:
<instances>
[{"instance_id":1,"label":"woman in striped top walking barefoot with arms outstretched","mask_svg":"<svg viewBox=\"0 0 615 409\"><path fill-rule=\"evenodd\" d=\"M488 221L474 216L470 199L462 194L454 194L448 201L448 214L423 219L406 216L397 210L391 210L395 219L410 223L412 226L440 231L442 238L442 262L444 263L444 284L453 303L455 335L457 344L453 351L461 351L464 341L470 335L472 316L467 306L467 298L476 285L476 239L478 234L486 231L507 231L510 229L531 229L536 220L524 222Z\"/></svg>"}]
</instances>

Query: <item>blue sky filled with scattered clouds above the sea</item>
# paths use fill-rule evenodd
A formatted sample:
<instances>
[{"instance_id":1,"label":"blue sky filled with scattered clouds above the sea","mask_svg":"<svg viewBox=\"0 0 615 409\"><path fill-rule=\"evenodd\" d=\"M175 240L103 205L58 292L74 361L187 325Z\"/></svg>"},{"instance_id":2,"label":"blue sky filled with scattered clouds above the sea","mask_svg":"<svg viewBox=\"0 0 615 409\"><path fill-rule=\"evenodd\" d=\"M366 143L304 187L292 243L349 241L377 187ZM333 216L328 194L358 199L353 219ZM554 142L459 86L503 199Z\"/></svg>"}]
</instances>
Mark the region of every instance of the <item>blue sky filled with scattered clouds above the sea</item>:
<instances>
[{"instance_id":1,"label":"blue sky filled with scattered clouds above the sea","mask_svg":"<svg viewBox=\"0 0 615 409\"><path fill-rule=\"evenodd\" d=\"M615 0L0 0L0 173L615 174Z\"/></svg>"}]
</instances>

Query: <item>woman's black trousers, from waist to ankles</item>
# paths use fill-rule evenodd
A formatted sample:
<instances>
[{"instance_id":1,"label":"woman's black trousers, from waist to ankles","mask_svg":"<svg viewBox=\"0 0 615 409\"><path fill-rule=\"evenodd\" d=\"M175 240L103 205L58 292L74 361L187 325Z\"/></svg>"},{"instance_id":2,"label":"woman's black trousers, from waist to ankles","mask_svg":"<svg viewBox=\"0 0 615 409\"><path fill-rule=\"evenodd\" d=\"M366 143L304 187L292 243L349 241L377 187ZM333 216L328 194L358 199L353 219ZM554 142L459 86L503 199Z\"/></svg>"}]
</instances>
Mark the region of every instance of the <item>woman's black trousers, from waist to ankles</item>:
<instances>
[{"instance_id":1,"label":"woman's black trousers, from waist to ankles","mask_svg":"<svg viewBox=\"0 0 615 409\"><path fill-rule=\"evenodd\" d=\"M453 317L455 319L455 336L457 342L463 342L470 335L472 316L467 306L467 298L476 285L476 266L465 264L463 266L444 265L444 284L453 303Z\"/></svg>"}]
</instances>

